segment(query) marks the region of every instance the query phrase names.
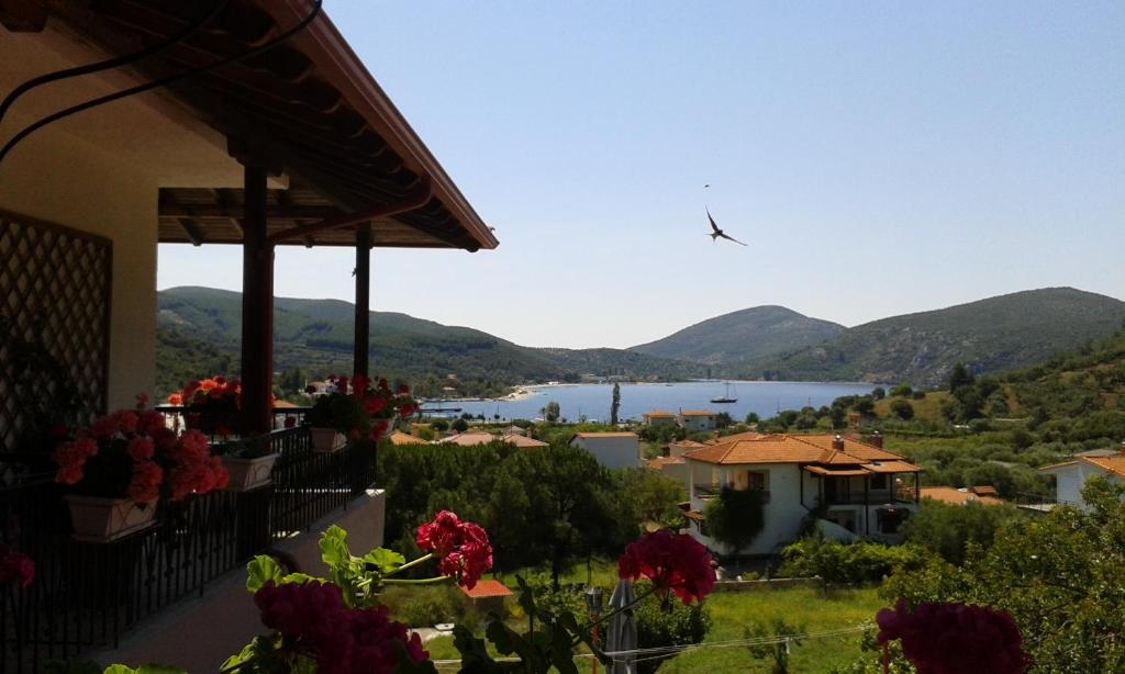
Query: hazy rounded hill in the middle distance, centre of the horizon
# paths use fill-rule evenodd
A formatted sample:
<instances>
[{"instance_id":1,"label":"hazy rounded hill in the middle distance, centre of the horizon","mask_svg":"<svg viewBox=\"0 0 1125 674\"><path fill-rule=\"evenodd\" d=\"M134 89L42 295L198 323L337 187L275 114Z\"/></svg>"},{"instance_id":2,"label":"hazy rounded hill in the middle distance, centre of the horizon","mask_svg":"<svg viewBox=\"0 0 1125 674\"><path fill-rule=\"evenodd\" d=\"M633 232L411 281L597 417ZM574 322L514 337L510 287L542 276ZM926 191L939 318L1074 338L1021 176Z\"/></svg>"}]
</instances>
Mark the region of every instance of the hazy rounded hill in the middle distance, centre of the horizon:
<instances>
[{"instance_id":1,"label":"hazy rounded hill in the middle distance, centre of the horizon","mask_svg":"<svg viewBox=\"0 0 1125 674\"><path fill-rule=\"evenodd\" d=\"M708 365L731 365L820 344L844 329L784 307L754 307L698 322L630 350Z\"/></svg>"}]
</instances>

